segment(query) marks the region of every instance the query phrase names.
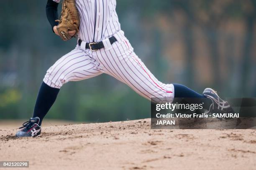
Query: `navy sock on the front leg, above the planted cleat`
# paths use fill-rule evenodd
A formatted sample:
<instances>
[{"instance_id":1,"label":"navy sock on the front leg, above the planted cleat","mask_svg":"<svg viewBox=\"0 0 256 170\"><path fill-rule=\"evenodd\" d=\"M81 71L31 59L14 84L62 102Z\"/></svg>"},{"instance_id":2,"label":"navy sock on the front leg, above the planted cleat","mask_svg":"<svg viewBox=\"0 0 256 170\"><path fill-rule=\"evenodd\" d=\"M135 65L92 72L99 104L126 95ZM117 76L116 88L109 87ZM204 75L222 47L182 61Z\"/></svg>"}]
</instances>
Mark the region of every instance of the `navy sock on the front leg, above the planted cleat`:
<instances>
[{"instance_id":1,"label":"navy sock on the front leg, above the planted cleat","mask_svg":"<svg viewBox=\"0 0 256 170\"><path fill-rule=\"evenodd\" d=\"M46 85L44 82L42 83L38 92L36 105L33 113L33 117L40 118L40 126L42 120L44 119L44 116L47 114L51 106L54 104L58 93L59 89L50 87L49 85Z\"/></svg>"}]
</instances>

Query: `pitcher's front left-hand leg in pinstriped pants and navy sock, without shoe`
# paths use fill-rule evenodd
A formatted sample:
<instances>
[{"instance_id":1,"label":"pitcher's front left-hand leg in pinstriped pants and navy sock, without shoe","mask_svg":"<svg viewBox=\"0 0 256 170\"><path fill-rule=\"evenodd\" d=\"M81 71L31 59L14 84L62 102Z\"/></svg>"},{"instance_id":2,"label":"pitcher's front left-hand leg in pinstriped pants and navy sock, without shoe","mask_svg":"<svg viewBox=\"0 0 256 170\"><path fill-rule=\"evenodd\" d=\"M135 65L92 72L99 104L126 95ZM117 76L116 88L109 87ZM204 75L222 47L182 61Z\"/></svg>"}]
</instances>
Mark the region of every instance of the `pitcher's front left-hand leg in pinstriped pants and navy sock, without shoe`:
<instances>
[{"instance_id":1,"label":"pitcher's front left-hand leg in pinstriped pants and navy sock, without shoe","mask_svg":"<svg viewBox=\"0 0 256 170\"><path fill-rule=\"evenodd\" d=\"M82 50L76 48L64 55L47 70L38 92L33 117L39 117L39 125L41 125L44 116L56 100L59 88L64 83L85 80L100 74L102 74L101 70L95 67L92 59Z\"/></svg>"}]
</instances>

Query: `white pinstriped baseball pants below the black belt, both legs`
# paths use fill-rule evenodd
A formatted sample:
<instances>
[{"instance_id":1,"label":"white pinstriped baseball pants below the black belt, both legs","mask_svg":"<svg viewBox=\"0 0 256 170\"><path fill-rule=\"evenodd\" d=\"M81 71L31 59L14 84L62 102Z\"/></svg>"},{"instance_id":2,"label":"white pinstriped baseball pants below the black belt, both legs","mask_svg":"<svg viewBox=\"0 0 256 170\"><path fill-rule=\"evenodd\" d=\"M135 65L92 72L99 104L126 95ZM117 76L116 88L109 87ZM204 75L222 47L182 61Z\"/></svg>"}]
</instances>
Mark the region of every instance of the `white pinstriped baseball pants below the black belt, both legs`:
<instances>
[{"instance_id":1,"label":"white pinstriped baseball pants below the black belt, both legs","mask_svg":"<svg viewBox=\"0 0 256 170\"><path fill-rule=\"evenodd\" d=\"M85 80L106 73L148 100L154 97L160 101L172 102L174 86L156 79L133 52L133 47L122 32L114 36L118 41L113 45L105 42L105 48L94 52L85 49L85 43L77 45L47 70L44 82L50 87L60 88L69 81Z\"/></svg>"}]
</instances>

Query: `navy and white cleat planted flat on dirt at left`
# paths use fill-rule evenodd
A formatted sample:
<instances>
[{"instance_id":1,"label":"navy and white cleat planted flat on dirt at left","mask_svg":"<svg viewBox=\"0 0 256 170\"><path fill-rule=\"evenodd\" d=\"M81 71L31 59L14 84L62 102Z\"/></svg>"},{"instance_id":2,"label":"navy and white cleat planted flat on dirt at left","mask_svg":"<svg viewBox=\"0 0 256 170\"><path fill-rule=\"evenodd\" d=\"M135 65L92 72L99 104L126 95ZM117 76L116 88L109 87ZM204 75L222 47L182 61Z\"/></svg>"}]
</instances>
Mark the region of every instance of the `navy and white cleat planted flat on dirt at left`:
<instances>
[{"instance_id":1,"label":"navy and white cleat planted flat on dirt at left","mask_svg":"<svg viewBox=\"0 0 256 170\"><path fill-rule=\"evenodd\" d=\"M20 127L17 133L16 133L16 137L20 138L20 137L36 137L36 136L40 136L41 134L41 126L38 125L40 121L39 117L33 117L30 118L29 121L24 122L23 126Z\"/></svg>"}]
</instances>

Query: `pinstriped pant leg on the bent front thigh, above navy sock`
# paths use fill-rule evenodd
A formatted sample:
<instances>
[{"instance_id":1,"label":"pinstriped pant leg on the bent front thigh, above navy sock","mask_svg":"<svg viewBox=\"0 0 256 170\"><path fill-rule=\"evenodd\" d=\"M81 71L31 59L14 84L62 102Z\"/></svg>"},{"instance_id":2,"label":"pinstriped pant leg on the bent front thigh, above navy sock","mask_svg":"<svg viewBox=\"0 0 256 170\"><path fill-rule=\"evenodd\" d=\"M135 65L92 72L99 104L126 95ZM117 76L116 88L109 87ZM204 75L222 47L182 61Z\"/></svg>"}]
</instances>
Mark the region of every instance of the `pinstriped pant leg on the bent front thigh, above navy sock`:
<instances>
[{"instance_id":1,"label":"pinstriped pant leg on the bent front thigh, above navy sock","mask_svg":"<svg viewBox=\"0 0 256 170\"><path fill-rule=\"evenodd\" d=\"M85 80L102 74L97 63L80 48L67 53L46 72L44 82L54 88L60 88L69 81Z\"/></svg>"}]
</instances>

